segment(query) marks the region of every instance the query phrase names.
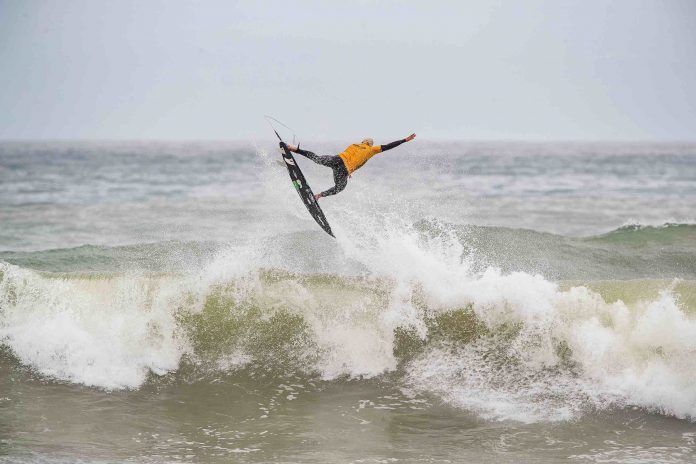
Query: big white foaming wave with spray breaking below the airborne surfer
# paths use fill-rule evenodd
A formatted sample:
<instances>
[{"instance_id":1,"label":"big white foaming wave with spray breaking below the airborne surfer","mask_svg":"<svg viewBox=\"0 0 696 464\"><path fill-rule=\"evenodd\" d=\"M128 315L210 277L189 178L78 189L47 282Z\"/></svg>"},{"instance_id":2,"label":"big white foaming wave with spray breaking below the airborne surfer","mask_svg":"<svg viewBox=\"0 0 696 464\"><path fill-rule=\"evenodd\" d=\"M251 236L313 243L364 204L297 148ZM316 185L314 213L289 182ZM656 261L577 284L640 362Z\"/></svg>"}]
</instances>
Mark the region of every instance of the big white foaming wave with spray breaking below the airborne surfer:
<instances>
[{"instance_id":1,"label":"big white foaming wave with spray breaking below the airborne surfer","mask_svg":"<svg viewBox=\"0 0 696 464\"><path fill-rule=\"evenodd\" d=\"M493 420L569 420L626 406L693 420L696 273L677 264L665 273L681 269L683 279L601 276L616 265L612 253L639 257L636 265L658 248L677 256L694 234L675 225L571 239L421 222L362 242L339 235L340 253L297 246L304 236L291 234L256 246L197 245L196 260L146 270L84 262L56 270L56 256L69 267L69 250L4 254L0 362L108 390L243 369L335 382L383 376ZM604 271L588 279L560 265L520 270L524 259L480 246L512 246L513 236L527 250L545 243L547 265L569 247L608 250L609 259L597 259ZM288 242L303 255L283 254ZM121 255L99 250L73 253L91 263ZM339 255L326 265L333 270L308 270L329 255ZM185 261L195 264L185 270Z\"/></svg>"}]
</instances>

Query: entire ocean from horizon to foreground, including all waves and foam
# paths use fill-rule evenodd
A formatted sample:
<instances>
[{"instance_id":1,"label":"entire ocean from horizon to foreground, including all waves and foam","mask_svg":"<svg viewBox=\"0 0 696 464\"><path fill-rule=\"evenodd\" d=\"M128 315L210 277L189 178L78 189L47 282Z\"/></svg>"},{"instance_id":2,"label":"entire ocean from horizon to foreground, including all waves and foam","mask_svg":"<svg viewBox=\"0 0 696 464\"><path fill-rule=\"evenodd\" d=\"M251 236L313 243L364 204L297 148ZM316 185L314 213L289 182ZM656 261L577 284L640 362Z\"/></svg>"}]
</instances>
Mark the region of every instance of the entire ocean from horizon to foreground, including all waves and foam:
<instances>
[{"instance_id":1,"label":"entire ocean from horizon to foreground, including all waves and foam","mask_svg":"<svg viewBox=\"0 0 696 464\"><path fill-rule=\"evenodd\" d=\"M696 145L279 159L0 142L0 462L696 461Z\"/></svg>"}]
</instances>

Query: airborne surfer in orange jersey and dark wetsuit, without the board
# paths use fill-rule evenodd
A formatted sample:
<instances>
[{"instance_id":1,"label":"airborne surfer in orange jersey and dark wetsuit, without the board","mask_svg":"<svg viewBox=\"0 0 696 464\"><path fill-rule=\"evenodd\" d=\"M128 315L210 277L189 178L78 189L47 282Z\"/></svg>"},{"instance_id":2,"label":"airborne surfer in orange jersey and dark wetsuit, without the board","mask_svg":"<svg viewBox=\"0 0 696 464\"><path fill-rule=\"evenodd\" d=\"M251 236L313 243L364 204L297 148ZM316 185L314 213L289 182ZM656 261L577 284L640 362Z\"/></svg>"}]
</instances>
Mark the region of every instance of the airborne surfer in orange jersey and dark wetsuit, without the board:
<instances>
[{"instance_id":1,"label":"airborne surfer in orange jersey and dark wetsuit, without the board","mask_svg":"<svg viewBox=\"0 0 696 464\"><path fill-rule=\"evenodd\" d=\"M416 134L411 134L405 139L397 140L386 145L373 146L374 142L371 138L367 137L363 139L360 143L354 143L341 154L336 156L318 156L311 151L302 150L299 146L288 145L288 150L299 153L305 158L309 158L317 164L322 166L327 166L333 169L334 172L334 185L330 189L317 193L314 195L315 200L319 198L327 197L329 195L336 195L338 192L346 188L348 185L348 178L358 169L362 167L363 164L367 163L367 160L375 156L377 153L381 153L392 148L396 148L404 142L410 142L416 138Z\"/></svg>"}]
</instances>

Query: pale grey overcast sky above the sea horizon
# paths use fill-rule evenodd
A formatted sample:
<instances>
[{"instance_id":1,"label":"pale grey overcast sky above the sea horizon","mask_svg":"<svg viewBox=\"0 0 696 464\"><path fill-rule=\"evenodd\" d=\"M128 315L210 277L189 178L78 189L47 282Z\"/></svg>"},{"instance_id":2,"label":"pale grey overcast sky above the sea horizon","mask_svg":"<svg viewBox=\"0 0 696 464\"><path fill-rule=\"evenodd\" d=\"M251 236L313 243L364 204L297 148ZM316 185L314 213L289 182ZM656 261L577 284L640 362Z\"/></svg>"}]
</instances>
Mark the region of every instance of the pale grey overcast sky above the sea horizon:
<instances>
[{"instance_id":1,"label":"pale grey overcast sky above the sea horizon","mask_svg":"<svg viewBox=\"0 0 696 464\"><path fill-rule=\"evenodd\" d=\"M0 138L696 140L696 1L0 0Z\"/></svg>"}]
</instances>

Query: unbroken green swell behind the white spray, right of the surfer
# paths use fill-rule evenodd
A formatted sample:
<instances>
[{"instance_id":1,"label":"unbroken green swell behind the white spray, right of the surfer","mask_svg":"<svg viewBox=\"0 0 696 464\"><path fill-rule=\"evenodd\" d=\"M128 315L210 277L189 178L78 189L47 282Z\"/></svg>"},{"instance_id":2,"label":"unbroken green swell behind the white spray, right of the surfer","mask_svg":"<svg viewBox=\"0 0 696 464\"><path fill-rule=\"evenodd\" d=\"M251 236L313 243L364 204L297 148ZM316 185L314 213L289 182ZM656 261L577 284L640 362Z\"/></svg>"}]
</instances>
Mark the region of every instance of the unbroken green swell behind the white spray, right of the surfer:
<instances>
[{"instance_id":1,"label":"unbroken green swell behind the white spray, right of the surfer","mask_svg":"<svg viewBox=\"0 0 696 464\"><path fill-rule=\"evenodd\" d=\"M552 280L696 278L696 225L626 226L576 238L528 229L422 221L430 234L453 231L478 271L542 274Z\"/></svg>"}]
</instances>

